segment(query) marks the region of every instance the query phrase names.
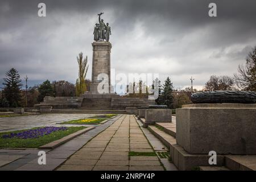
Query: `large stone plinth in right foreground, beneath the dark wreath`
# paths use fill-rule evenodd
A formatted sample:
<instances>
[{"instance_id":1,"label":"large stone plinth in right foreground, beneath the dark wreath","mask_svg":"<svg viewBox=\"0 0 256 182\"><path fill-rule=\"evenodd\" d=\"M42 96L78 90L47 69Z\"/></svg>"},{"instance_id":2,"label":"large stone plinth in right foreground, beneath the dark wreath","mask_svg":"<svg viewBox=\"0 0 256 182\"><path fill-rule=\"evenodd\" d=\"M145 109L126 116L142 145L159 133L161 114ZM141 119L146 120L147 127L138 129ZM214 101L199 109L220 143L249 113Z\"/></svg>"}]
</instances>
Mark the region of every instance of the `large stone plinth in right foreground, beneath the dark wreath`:
<instances>
[{"instance_id":1,"label":"large stone plinth in right foreground, beneath the dark wreath","mask_svg":"<svg viewBox=\"0 0 256 182\"><path fill-rule=\"evenodd\" d=\"M176 109L177 144L190 154L256 154L256 104L193 104Z\"/></svg>"}]
</instances>

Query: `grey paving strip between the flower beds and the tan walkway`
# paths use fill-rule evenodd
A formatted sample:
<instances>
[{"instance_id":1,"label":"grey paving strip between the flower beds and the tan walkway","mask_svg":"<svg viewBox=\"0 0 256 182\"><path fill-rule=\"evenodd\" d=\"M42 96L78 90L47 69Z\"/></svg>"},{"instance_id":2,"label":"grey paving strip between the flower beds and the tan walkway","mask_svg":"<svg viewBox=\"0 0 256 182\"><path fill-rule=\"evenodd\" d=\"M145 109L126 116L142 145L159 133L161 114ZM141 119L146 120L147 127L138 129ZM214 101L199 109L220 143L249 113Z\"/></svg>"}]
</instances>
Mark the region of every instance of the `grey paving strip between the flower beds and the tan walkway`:
<instances>
[{"instance_id":1,"label":"grey paving strip between the flower beds and the tan walkway","mask_svg":"<svg viewBox=\"0 0 256 182\"><path fill-rule=\"evenodd\" d=\"M82 118L85 114L82 114ZM95 137L98 133L108 128L112 125L121 115L116 118L110 119L109 122L106 122L100 126L97 126L96 129L90 130L85 134L80 135L79 137L69 140L67 143L53 149L44 149L46 152L46 157L48 164L39 165L38 160L38 151L34 149L26 150L0 150L0 155L22 155L22 158L18 160L8 161L9 164L0 167L1 170L53 170L56 167L60 166L69 156L74 154L79 150L85 143L90 139ZM1 123L0 123L1 124ZM42 149L41 149L42 150ZM5 162L6 164L6 162ZM78 169L77 169L78 170Z\"/></svg>"}]
</instances>

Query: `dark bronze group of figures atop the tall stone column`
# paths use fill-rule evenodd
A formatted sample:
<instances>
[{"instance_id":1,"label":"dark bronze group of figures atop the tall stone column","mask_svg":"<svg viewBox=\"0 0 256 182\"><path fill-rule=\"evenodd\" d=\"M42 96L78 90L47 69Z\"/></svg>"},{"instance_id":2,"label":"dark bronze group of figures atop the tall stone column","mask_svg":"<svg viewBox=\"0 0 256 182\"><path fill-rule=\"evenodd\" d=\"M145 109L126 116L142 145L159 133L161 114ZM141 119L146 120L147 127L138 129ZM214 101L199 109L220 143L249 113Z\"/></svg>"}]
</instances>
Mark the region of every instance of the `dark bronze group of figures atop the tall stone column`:
<instances>
[{"instance_id":1,"label":"dark bronze group of figures atop the tall stone column","mask_svg":"<svg viewBox=\"0 0 256 182\"><path fill-rule=\"evenodd\" d=\"M104 23L104 20L101 19L101 15L98 14L98 23L96 23L93 31L95 41L104 41L109 42L109 36L111 35L111 29L109 23Z\"/></svg>"}]
</instances>

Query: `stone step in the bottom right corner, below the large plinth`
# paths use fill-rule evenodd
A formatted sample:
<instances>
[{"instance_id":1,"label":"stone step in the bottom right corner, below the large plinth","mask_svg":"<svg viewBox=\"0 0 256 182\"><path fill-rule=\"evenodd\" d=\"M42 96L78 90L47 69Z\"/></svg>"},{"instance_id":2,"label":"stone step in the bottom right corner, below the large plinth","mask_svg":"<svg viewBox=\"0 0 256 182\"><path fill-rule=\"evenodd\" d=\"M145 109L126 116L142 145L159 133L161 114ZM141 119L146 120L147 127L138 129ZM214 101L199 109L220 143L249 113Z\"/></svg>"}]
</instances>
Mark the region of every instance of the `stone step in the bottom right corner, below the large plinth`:
<instances>
[{"instance_id":1,"label":"stone step in the bottom right corner, below the large plinth","mask_svg":"<svg viewBox=\"0 0 256 182\"><path fill-rule=\"evenodd\" d=\"M256 155L226 155L225 166L234 171L256 171Z\"/></svg>"}]
</instances>

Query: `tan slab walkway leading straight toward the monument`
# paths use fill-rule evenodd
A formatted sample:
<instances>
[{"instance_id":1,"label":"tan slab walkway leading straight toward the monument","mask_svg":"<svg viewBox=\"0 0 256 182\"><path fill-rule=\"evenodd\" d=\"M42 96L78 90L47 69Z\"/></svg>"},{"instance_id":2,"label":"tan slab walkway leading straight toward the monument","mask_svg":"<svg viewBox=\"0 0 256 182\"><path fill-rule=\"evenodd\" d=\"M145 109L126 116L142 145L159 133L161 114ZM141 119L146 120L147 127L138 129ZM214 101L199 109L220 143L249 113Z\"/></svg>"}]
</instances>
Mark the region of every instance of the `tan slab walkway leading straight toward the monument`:
<instances>
[{"instance_id":1,"label":"tan slab walkway leading straight toward the monument","mask_svg":"<svg viewBox=\"0 0 256 182\"><path fill-rule=\"evenodd\" d=\"M157 156L129 156L129 151L154 150L134 115L122 115L57 170L164 170Z\"/></svg>"}]
</instances>

